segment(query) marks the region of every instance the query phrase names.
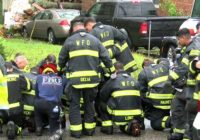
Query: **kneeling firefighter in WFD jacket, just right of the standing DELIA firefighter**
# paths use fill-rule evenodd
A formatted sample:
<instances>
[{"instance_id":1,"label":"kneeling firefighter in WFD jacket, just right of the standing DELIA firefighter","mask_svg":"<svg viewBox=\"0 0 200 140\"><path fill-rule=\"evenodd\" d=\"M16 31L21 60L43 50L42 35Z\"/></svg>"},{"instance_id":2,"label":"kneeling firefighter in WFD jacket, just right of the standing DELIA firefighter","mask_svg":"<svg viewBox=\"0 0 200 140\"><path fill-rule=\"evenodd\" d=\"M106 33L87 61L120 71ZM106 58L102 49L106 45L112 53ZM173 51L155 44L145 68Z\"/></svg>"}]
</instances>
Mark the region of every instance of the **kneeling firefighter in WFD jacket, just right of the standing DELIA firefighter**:
<instances>
[{"instance_id":1,"label":"kneeling firefighter in WFD jacket, just right of the standing DELIA firefighter","mask_svg":"<svg viewBox=\"0 0 200 140\"><path fill-rule=\"evenodd\" d=\"M139 136L142 114L139 83L124 71L122 63L116 62L115 69L100 91L101 132L112 134L114 123L122 132Z\"/></svg>"}]
</instances>

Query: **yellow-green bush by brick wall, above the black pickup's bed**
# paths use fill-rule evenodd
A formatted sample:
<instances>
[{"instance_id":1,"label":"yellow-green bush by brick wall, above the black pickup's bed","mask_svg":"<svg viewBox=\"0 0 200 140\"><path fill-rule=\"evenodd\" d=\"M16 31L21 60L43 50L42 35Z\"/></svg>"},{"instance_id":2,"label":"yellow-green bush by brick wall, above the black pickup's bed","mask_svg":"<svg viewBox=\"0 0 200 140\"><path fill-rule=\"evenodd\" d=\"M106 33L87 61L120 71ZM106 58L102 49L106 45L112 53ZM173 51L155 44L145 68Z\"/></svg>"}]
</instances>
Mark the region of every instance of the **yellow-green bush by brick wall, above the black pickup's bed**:
<instances>
[{"instance_id":1,"label":"yellow-green bush by brick wall, above the black pickup's bed","mask_svg":"<svg viewBox=\"0 0 200 140\"><path fill-rule=\"evenodd\" d=\"M163 0L160 4L160 8L163 11L167 11L169 16L182 16L183 12L181 10L177 10L176 5L172 2L172 0Z\"/></svg>"}]
</instances>

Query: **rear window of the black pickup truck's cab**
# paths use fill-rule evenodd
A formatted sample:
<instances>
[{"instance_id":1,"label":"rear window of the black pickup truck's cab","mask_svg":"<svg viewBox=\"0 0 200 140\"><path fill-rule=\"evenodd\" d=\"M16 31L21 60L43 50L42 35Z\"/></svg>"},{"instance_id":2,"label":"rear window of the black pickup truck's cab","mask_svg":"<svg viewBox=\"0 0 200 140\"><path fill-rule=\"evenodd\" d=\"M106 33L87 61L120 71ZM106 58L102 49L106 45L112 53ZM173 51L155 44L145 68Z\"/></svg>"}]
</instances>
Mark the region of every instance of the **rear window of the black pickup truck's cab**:
<instances>
[{"instance_id":1,"label":"rear window of the black pickup truck's cab","mask_svg":"<svg viewBox=\"0 0 200 140\"><path fill-rule=\"evenodd\" d=\"M118 16L120 17L133 17L141 16L142 10L140 4L121 3L119 5Z\"/></svg>"}]
</instances>

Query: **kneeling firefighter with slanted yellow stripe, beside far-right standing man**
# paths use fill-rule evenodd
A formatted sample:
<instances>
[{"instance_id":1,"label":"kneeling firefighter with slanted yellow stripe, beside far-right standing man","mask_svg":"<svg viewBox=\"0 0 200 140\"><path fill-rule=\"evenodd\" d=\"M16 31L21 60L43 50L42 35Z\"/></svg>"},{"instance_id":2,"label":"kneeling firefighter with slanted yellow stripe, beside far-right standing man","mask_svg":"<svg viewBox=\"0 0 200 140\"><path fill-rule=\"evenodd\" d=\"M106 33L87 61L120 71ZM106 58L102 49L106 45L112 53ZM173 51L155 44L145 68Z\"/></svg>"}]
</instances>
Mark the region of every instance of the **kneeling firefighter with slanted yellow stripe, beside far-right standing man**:
<instances>
[{"instance_id":1,"label":"kneeling firefighter with slanted yellow stripe, beside far-right standing man","mask_svg":"<svg viewBox=\"0 0 200 140\"><path fill-rule=\"evenodd\" d=\"M145 59L138 81L141 89L144 117L149 119L154 130L170 128L172 87L168 84L169 61L159 59L158 64ZM168 87L167 87L168 86Z\"/></svg>"}]
</instances>

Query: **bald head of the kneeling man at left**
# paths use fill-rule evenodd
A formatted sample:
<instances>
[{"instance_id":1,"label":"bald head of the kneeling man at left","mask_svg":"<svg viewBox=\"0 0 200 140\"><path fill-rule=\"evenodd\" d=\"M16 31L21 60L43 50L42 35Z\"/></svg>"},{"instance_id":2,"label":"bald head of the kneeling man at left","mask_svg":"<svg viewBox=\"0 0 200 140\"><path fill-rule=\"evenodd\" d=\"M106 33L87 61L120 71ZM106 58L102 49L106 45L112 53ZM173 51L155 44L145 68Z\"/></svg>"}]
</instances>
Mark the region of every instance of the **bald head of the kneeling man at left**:
<instances>
[{"instance_id":1,"label":"bald head of the kneeling man at left","mask_svg":"<svg viewBox=\"0 0 200 140\"><path fill-rule=\"evenodd\" d=\"M18 55L15 57L15 63L19 69L23 70L27 66L28 60L24 55Z\"/></svg>"}]
</instances>

